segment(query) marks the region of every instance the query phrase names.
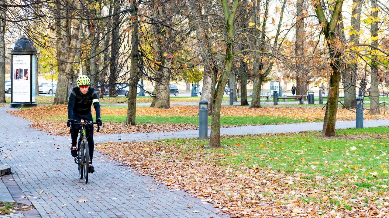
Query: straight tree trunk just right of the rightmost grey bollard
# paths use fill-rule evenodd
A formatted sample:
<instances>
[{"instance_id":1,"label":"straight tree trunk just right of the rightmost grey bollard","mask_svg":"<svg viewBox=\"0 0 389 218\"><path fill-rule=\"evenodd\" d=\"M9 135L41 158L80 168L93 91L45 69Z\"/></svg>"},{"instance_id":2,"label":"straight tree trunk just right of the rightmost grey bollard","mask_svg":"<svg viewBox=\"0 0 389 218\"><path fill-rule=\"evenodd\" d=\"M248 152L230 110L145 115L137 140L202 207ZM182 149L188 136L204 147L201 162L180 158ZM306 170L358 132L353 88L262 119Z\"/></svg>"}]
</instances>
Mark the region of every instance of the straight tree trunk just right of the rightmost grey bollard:
<instances>
[{"instance_id":1,"label":"straight tree trunk just right of the rightmost grey bollard","mask_svg":"<svg viewBox=\"0 0 389 218\"><path fill-rule=\"evenodd\" d=\"M379 7L377 5L377 0L371 0L371 8L372 8L371 17L373 17L374 19L372 19L373 21L372 21L371 26L370 26L370 33L371 33L371 36L377 38L377 36L378 36L378 11L379 11ZM373 45L374 47L378 47L378 39L373 40L373 42L371 42L371 45ZM374 54L376 52L377 52L377 50L371 50L371 54ZM379 81L378 81L379 74L378 74L378 64L377 64L378 57L376 55L370 55L370 58L371 58L371 64L370 64L370 70L371 70L370 88L371 88L371 91L369 93L369 97L370 97L370 111L369 111L369 113L372 115L375 115L375 114L380 114L380 101L378 99L378 85L379 85Z\"/></svg>"}]
</instances>

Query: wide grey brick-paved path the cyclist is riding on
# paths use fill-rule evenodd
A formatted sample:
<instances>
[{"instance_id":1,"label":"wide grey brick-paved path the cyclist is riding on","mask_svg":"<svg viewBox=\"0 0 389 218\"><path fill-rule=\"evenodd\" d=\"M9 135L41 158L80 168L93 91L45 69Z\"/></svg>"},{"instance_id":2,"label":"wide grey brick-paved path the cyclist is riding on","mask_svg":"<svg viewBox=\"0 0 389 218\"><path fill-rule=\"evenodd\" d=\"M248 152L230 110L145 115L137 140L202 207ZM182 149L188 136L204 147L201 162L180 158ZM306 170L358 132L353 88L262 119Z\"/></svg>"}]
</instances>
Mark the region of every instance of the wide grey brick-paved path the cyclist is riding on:
<instances>
[{"instance_id":1,"label":"wide grey brick-paved path the cyclist is riding on","mask_svg":"<svg viewBox=\"0 0 389 218\"><path fill-rule=\"evenodd\" d=\"M218 214L212 204L153 182L97 151L93 159L96 172L88 184L79 183L68 138L33 130L29 121L7 110L11 109L0 107L0 161L11 166L21 195L28 197L13 195L18 198L15 201L30 200L41 217L229 217ZM86 202L77 203L80 199Z\"/></svg>"}]
</instances>

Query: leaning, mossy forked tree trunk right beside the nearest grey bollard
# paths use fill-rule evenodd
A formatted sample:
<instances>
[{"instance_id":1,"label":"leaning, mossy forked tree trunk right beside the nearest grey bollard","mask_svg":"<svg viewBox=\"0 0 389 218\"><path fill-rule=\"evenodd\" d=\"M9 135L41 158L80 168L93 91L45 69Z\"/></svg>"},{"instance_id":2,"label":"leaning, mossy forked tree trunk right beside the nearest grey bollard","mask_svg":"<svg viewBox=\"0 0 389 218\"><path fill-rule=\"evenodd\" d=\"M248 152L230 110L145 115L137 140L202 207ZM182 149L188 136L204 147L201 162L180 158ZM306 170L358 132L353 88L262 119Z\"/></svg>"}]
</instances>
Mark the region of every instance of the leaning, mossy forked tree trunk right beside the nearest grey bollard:
<instances>
[{"instance_id":1,"label":"leaning, mossy forked tree trunk right beside the nearest grey bollard","mask_svg":"<svg viewBox=\"0 0 389 218\"><path fill-rule=\"evenodd\" d=\"M234 53L234 35L235 35L235 12L238 8L238 0L234 0L232 5L232 10L230 11L227 0L222 0L223 10L224 10L224 18L226 21L226 32L227 32L227 40L226 40L226 53L223 62L223 72L221 73L218 81L218 85L216 88L216 92L214 94L214 106L212 109L212 120L211 120L211 135L209 145L211 148L219 148L220 147L220 109L221 102L223 100L224 87L227 84L228 76L230 76L232 61L235 57Z\"/></svg>"}]
</instances>

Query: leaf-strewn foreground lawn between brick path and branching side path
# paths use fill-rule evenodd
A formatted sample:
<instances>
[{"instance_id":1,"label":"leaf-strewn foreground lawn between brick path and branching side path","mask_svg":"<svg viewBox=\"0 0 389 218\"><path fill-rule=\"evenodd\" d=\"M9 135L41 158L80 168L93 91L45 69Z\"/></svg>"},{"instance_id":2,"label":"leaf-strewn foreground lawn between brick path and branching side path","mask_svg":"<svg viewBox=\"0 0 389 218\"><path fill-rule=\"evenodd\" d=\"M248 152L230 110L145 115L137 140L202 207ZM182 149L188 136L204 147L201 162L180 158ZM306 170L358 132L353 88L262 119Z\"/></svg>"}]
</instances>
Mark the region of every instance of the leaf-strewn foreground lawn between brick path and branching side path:
<instances>
[{"instance_id":1,"label":"leaf-strewn foreground lawn between brick path and branching side path","mask_svg":"<svg viewBox=\"0 0 389 218\"><path fill-rule=\"evenodd\" d=\"M232 217L385 217L388 132L222 136L220 149L193 138L102 143L96 149Z\"/></svg>"}]
</instances>

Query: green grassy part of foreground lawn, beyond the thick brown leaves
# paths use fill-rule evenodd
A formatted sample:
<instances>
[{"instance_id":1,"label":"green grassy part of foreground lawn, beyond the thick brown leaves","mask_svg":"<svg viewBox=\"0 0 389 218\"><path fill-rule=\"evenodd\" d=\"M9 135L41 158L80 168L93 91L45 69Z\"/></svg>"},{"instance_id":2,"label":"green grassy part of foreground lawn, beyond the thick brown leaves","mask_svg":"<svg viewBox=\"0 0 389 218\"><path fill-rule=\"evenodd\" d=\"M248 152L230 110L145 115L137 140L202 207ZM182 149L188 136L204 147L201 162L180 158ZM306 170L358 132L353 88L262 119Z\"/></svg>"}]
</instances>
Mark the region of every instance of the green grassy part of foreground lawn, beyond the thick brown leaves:
<instances>
[{"instance_id":1,"label":"green grassy part of foreground lawn, beyond the thick brown leaves","mask_svg":"<svg viewBox=\"0 0 389 218\"><path fill-rule=\"evenodd\" d=\"M389 185L389 127L337 131L338 138L322 138L321 132L223 136L219 159L205 157L223 166L268 167L286 173L305 173L309 178L326 176L354 181L359 187ZM187 145L195 154L209 140L172 139L163 143ZM335 184L328 184L335 185Z\"/></svg>"}]
</instances>

